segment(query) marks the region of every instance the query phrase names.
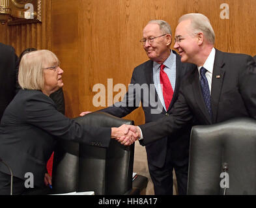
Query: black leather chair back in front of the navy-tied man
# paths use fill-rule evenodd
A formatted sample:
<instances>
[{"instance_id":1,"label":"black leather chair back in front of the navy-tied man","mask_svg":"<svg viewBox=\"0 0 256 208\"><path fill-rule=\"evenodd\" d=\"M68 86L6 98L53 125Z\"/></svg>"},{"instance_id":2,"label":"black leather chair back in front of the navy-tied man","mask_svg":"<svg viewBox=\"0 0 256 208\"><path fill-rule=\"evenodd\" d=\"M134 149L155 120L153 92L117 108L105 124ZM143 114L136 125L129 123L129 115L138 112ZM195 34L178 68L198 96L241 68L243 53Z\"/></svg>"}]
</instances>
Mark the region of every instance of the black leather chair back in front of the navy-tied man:
<instances>
[{"instance_id":1,"label":"black leather chair back in front of the navy-tied man","mask_svg":"<svg viewBox=\"0 0 256 208\"><path fill-rule=\"evenodd\" d=\"M256 120L239 118L192 128L188 194L223 194L220 174L225 162L226 194L256 194Z\"/></svg>"}]
</instances>

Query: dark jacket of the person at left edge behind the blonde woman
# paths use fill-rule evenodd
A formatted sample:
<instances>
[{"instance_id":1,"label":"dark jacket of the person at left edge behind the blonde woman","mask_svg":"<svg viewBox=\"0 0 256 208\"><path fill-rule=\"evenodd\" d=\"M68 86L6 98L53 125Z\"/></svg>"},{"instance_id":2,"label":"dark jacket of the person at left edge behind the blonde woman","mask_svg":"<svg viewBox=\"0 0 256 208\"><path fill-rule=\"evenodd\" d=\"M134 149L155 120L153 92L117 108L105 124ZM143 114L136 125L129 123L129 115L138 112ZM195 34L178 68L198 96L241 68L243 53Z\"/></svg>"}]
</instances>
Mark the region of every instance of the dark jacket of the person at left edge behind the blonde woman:
<instances>
[{"instance_id":1,"label":"dark jacket of the person at left edge behind the blonde woman","mask_svg":"<svg viewBox=\"0 0 256 208\"><path fill-rule=\"evenodd\" d=\"M19 59L14 48L0 43L0 121L7 105L15 96Z\"/></svg>"}]
</instances>

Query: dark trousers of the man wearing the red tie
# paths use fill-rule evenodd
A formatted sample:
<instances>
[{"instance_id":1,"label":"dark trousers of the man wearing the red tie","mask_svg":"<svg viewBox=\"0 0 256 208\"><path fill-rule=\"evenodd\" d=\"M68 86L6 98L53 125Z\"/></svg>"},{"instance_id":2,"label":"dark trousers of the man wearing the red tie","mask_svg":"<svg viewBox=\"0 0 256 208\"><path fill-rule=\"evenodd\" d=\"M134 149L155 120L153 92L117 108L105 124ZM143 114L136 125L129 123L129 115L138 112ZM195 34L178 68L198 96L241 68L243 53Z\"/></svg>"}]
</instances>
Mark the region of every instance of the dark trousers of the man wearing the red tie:
<instances>
[{"instance_id":1,"label":"dark trousers of the man wearing the red tie","mask_svg":"<svg viewBox=\"0 0 256 208\"><path fill-rule=\"evenodd\" d=\"M180 162L175 161L170 155L167 154L165 164L162 168L149 164L149 174L154 184L154 194L173 195L174 169L177 178L177 194L186 195L188 187L188 158Z\"/></svg>"}]
</instances>

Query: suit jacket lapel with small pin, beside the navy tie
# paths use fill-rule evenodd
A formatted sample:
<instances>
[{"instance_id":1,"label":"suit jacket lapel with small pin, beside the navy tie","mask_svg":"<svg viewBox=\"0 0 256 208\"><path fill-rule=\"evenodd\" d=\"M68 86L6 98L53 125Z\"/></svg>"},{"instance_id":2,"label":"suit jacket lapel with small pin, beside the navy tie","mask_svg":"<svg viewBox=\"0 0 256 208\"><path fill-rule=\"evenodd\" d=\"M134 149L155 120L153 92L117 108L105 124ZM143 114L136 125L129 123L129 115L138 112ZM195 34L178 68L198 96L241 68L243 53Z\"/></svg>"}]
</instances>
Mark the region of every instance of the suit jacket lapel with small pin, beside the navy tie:
<instances>
[{"instance_id":1,"label":"suit jacket lapel with small pin, beside the navy tie","mask_svg":"<svg viewBox=\"0 0 256 208\"><path fill-rule=\"evenodd\" d=\"M218 103L220 100L221 88L224 80L225 71L223 70L224 66L223 55L221 51L216 49L215 59L214 59L214 68L212 74L212 90L211 90L211 105L212 105L212 122L216 123L218 115Z\"/></svg>"}]
</instances>

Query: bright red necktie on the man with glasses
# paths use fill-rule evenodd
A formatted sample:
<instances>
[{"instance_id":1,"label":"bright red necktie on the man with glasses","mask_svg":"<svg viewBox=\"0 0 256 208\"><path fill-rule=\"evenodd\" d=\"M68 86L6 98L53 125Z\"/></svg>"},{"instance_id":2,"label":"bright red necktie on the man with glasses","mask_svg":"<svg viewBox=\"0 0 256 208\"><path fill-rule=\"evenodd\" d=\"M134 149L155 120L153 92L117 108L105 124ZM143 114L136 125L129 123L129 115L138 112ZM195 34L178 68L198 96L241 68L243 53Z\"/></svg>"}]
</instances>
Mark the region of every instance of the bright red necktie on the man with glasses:
<instances>
[{"instance_id":1,"label":"bright red necktie on the man with glasses","mask_svg":"<svg viewBox=\"0 0 256 208\"><path fill-rule=\"evenodd\" d=\"M173 98L173 88L171 87L170 80L167 76L167 74L164 72L164 64L161 64L160 66L160 84L162 85L162 92L164 96L164 103L166 111L169 108L169 105L171 103L171 99Z\"/></svg>"}]
</instances>

